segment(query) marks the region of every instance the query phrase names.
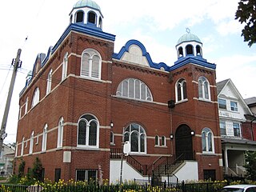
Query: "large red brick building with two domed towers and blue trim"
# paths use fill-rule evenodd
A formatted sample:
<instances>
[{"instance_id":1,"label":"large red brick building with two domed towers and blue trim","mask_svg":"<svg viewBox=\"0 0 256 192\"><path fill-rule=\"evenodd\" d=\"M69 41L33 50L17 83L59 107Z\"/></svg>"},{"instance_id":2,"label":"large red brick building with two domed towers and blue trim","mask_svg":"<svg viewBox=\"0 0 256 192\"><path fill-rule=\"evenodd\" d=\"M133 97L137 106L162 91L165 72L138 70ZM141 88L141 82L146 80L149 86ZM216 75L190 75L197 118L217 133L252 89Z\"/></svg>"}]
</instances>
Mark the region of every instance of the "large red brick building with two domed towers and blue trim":
<instances>
[{"instance_id":1,"label":"large red brick building with two domed towers and blue trim","mask_svg":"<svg viewBox=\"0 0 256 192\"><path fill-rule=\"evenodd\" d=\"M200 39L182 35L167 66L137 40L114 53L102 18L98 4L78 1L55 46L38 54L20 94L16 173L20 158L27 172L38 157L45 178L113 182L126 142L123 179L221 179L216 66Z\"/></svg>"}]
</instances>

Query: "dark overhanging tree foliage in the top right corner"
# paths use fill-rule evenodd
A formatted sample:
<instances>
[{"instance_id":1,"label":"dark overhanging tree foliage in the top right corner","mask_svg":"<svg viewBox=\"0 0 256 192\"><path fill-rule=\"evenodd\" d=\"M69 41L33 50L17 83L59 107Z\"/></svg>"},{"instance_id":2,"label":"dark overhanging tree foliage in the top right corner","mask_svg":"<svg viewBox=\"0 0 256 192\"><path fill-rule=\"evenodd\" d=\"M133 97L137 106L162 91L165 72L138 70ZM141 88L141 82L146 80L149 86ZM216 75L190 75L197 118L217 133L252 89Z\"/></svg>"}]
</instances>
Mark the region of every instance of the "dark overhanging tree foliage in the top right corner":
<instances>
[{"instance_id":1,"label":"dark overhanging tree foliage in the top right corner","mask_svg":"<svg viewBox=\"0 0 256 192\"><path fill-rule=\"evenodd\" d=\"M241 36L248 46L256 42L256 0L241 0L238 2L238 10L235 13L235 19L245 23Z\"/></svg>"}]
</instances>

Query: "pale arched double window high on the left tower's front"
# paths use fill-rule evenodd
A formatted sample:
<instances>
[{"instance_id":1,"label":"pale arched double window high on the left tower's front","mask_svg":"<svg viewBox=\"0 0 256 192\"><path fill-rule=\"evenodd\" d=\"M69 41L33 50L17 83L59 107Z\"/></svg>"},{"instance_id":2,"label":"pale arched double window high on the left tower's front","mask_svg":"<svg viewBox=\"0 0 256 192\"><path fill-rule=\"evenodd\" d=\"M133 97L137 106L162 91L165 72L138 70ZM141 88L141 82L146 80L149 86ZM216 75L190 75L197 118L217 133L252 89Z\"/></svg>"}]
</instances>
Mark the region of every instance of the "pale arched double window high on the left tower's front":
<instances>
[{"instance_id":1,"label":"pale arched double window high on the left tower's front","mask_svg":"<svg viewBox=\"0 0 256 192\"><path fill-rule=\"evenodd\" d=\"M87 49L82 52L81 76L101 78L102 58L97 50Z\"/></svg>"}]
</instances>

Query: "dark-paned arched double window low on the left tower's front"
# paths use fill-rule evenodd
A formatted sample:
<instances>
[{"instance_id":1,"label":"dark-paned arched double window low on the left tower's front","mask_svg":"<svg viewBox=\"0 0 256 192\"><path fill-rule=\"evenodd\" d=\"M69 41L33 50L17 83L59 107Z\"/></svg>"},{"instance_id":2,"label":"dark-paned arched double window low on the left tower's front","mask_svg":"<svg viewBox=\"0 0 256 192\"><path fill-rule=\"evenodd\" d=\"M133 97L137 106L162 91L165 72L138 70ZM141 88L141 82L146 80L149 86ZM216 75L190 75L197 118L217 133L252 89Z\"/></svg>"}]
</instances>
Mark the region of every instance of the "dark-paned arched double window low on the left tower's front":
<instances>
[{"instance_id":1,"label":"dark-paned arched double window low on the left tower's front","mask_svg":"<svg viewBox=\"0 0 256 192\"><path fill-rule=\"evenodd\" d=\"M98 147L99 122L91 114L83 115L78 121L78 146Z\"/></svg>"}]
</instances>

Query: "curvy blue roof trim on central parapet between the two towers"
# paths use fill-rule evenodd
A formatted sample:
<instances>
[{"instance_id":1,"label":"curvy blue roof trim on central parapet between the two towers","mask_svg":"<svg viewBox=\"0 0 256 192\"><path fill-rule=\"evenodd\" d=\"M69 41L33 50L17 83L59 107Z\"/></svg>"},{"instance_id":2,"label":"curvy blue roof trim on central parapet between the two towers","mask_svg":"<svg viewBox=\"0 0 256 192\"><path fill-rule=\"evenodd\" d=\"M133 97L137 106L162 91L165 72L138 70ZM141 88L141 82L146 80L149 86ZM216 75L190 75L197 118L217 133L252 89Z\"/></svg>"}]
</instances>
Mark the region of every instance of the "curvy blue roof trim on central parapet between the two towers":
<instances>
[{"instance_id":1,"label":"curvy blue roof trim on central parapet between the two towers","mask_svg":"<svg viewBox=\"0 0 256 192\"><path fill-rule=\"evenodd\" d=\"M160 68L163 67L166 71L169 71L170 66L167 66L166 63L164 63L164 62L159 62L159 63L153 62L151 57L150 57L150 54L148 52L146 52L145 46L143 46L143 44L141 42L139 42L138 40L135 40L135 39L131 39L128 42L126 42L126 45L122 46L119 53L118 54L114 53L112 55L112 57L115 58L115 59L120 60L122 58L122 55L125 54L125 52L129 52L129 48L130 48L131 45L136 45L136 46L139 46L141 48L142 56L146 57L147 61L150 64L150 67L152 67L154 69L158 69L158 70L160 70Z\"/></svg>"}]
</instances>

